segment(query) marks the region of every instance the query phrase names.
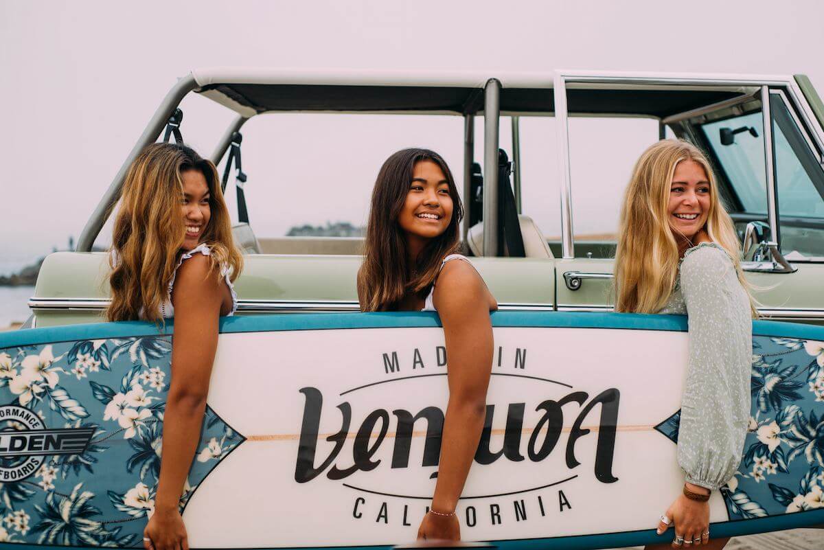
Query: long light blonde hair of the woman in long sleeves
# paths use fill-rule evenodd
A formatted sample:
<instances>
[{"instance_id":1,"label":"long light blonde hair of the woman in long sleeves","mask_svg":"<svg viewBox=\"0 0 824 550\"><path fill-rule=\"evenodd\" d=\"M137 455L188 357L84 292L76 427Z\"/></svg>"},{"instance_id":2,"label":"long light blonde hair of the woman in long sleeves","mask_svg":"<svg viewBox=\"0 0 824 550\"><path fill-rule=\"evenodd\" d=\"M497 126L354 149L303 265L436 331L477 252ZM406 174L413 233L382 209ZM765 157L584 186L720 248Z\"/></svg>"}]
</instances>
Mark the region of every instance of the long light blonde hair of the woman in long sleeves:
<instances>
[{"instance_id":1,"label":"long light blonde hair of the woman in long sleeves","mask_svg":"<svg viewBox=\"0 0 824 550\"><path fill-rule=\"evenodd\" d=\"M616 249L616 311L655 313L672 294L678 272L678 245L667 214L670 184L681 161L700 164L709 180L709 212L704 227L709 239L727 251L738 281L747 291L753 316L756 305L738 254L741 245L733 220L719 199L709 161L689 142L665 139L648 147L635 163L620 212Z\"/></svg>"}]
</instances>

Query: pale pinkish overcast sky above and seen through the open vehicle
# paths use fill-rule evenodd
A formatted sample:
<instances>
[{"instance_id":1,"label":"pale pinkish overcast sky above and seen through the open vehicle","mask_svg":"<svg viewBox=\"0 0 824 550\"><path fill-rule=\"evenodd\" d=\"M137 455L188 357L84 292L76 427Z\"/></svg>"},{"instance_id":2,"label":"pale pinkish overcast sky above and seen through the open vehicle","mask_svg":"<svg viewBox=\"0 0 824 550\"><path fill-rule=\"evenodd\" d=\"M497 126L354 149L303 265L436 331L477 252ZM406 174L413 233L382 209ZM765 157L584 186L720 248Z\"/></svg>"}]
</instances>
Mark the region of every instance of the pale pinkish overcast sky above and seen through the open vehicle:
<instances>
[{"instance_id":1,"label":"pale pinkish overcast sky above and seen through the open vehicle","mask_svg":"<svg viewBox=\"0 0 824 550\"><path fill-rule=\"evenodd\" d=\"M192 68L803 72L822 93L822 16L821 2L795 0L0 0L0 274L77 238ZM207 155L232 114L202 96L183 110L185 140ZM521 121L524 212L545 235L559 221L553 122ZM458 117L256 117L243 130L251 225L259 237L360 225L386 156L433 148L460 179L462 132ZM656 137L648 119L570 122L575 231L614 230L631 165Z\"/></svg>"}]
</instances>

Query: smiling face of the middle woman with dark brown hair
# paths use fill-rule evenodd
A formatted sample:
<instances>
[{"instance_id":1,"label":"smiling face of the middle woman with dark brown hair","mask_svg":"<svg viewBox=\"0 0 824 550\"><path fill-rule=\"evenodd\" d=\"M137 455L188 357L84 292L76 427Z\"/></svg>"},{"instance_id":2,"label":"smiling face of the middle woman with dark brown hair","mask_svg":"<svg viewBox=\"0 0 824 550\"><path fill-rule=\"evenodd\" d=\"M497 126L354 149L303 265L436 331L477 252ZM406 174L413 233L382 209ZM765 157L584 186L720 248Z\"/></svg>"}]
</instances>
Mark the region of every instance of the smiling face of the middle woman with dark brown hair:
<instances>
[{"instance_id":1,"label":"smiling face of the middle woman with dark brown hair","mask_svg":"<svg viewBox=\"0 0 824 550\"><path fill-rule=\"evenodd\" d=\"M398 216L410 249L419 251L426 241L446 231L452 221L452 207L449 183L440 166L433 161L416 162Z\"/></svg>"}]
</instances>

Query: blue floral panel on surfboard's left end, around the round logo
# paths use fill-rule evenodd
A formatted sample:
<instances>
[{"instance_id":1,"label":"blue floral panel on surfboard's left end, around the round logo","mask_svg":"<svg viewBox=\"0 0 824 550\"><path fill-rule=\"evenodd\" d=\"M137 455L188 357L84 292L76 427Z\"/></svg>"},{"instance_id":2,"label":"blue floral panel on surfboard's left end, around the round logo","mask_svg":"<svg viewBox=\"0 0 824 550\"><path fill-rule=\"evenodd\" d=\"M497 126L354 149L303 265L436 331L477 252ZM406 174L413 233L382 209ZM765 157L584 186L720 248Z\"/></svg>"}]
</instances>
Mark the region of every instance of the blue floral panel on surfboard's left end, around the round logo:
<instances>
[{"instance_id":1,"label":"blue floral panel on surfboard's left end, around the round logo","mask_svg":"<svg viewBox=\"0 0 824 550\"><path fill-rule=\"evenodd\" d=\"M163 336L0 349L0 403L28 408L51 428L95 429L82 454L46 457L30 477L0 482L0 542L143 548L170 363L171 338ZM243 440L206 408L181 510Z\"/></svg>"}]
</instances>

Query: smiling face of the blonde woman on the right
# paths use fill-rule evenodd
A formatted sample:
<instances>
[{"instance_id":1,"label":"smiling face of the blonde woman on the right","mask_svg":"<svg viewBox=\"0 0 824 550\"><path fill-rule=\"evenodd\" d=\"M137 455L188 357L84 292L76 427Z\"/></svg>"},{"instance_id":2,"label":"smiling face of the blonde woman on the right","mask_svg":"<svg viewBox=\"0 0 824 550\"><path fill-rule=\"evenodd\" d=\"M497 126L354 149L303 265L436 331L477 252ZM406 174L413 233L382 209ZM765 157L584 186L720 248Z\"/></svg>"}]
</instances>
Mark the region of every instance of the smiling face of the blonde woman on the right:
<instances>
[{"instance_id":1,"label":"smiling face of the blonde woman on the right","mask_svg":"<svg viewBox=\"0 0 824 550\"><path fill-rule=\"evenodd\" d=\"M709 216L710 187L704 166L691 160L675 167L670 184L667 214L676 240L683 235L689 240L703 228Z\"/></svg>"}]
</instances>

